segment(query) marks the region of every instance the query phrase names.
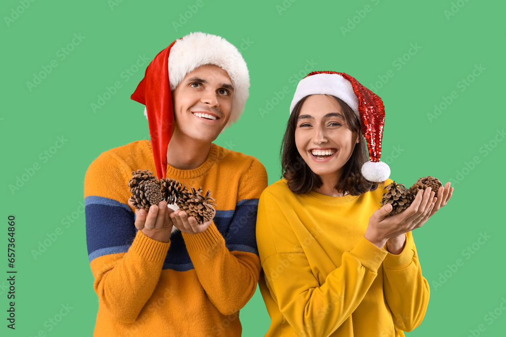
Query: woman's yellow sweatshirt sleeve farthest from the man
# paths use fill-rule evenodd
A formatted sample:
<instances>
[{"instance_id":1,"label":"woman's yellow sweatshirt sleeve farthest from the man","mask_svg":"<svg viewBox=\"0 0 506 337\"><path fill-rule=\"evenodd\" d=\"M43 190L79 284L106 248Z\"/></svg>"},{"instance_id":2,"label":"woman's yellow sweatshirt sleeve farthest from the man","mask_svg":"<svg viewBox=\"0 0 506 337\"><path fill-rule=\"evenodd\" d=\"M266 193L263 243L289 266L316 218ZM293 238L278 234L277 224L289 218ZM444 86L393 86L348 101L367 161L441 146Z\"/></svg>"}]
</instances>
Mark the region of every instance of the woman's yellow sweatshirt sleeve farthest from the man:
<instances>
[{"instance_id":1,"label":"woman's yellow sweatshirt sleeve farthest from the man","mask_svg":"<svg viewBox=\"0 0 506 337\"><path fill-rule=\"evenodd\" d=\"M383 290L396 328L411 331L420 325L429 305L429 283L421 274L411 232L399 255L388 253L383 262Z\"/></svg>"}]
</instances>

